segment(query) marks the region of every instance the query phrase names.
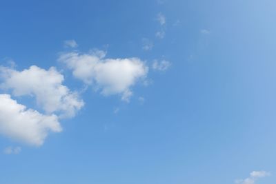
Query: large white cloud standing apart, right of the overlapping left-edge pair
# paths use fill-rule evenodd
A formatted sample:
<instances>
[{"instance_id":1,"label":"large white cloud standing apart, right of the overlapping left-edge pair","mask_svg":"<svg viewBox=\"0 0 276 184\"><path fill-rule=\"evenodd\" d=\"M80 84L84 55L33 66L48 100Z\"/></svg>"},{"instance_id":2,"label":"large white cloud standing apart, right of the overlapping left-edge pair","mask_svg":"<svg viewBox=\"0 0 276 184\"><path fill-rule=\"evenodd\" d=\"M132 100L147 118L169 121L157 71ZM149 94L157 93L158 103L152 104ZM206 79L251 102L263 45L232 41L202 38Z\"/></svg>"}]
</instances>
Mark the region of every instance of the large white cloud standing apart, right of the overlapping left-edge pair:
<instances>
[{"instance_id":1,"label":"large white cloud standing apart, right of the overlapping left-edge pair","mask_svg":"<svg viewBox=\"0 0 276 184\"><path fill-rule=\"evenodd\" d=\"M128 101L132 96L131 87L139 79L146 78L148 67L138 58L105 59L103 51L80 54L61 54L59 61L72 70L72 74L88 85L95 85L101 94L121 94Z\"/></svg>"}]
</instances>

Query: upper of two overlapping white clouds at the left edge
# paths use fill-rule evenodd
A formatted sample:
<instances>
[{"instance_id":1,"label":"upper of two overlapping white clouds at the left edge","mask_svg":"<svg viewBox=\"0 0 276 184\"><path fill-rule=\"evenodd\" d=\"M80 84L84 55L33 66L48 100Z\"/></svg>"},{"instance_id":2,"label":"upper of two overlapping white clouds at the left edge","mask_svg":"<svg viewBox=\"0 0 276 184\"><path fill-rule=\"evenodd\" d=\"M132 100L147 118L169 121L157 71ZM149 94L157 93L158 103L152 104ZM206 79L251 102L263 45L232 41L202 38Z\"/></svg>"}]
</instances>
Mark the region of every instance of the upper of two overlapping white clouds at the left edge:
<instances>
[{"instance_id":1,"label":"upper of two overlapping white clouds at the left edge","mask_svg":"<svg viewBox=\"0 0 276 184\"><path fill-rule=\"evenodd\" d=\"M55 68L44 70L35 65L23 71L0 66L1 88L12 89L15 96L35 96L37 104L51 114L72 117L83 106L76 92L62 85L63 75Z\"/></svg>"}]
</instances>

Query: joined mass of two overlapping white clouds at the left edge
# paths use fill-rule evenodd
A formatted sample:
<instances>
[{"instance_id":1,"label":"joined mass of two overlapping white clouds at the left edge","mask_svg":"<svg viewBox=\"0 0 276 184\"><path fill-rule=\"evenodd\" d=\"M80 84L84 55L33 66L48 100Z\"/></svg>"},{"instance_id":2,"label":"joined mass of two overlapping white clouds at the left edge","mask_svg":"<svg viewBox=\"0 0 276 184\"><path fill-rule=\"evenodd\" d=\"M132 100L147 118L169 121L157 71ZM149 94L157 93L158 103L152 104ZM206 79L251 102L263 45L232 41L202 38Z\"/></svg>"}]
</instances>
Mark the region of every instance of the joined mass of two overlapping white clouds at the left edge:
<instances>
[{"instance_id":1,"label":"joined mass of two overlapping white clouds at the left edge","mask_svg":"<svg viewBox=\"0 0 276 184\"><path fill-rule=\"evenodd\" d=\"M40 146L50 132L61 132L59 119L70 118L83 107L77 92L63 85L64 77L55 68L35 65L17 71L0 66L0 87L13 96L30 96L44 111L26 108L10 94L0 94L0 134L28 145Z\"/></svg>"}]
</instances>

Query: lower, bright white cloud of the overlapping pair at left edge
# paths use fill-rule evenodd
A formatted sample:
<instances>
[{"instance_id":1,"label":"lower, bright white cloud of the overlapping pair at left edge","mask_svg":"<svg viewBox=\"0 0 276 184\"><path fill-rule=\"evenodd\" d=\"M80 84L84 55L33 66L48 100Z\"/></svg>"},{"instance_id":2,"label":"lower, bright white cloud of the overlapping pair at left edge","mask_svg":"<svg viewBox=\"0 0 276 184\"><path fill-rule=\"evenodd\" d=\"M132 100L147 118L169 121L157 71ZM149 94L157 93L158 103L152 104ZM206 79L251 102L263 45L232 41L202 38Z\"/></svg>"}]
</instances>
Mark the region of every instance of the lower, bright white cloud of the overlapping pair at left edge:
<instances>
[{"instance_id":1,"label":"lower, bright white cloud of the overlapping pair at left edge","mask_svg":"<svg viewBox=\"0 0 276 184\"><path fill-rule=\"evenodd\" d=\"M43 115L17 103L9 94L0 94L0 134L10 139L42 145L50 132L61 132L55 115Z\"/></svg>"}]
</instances>

